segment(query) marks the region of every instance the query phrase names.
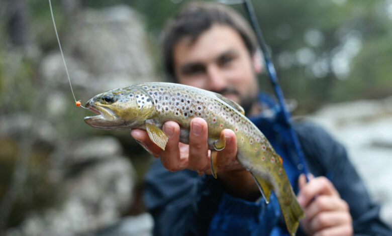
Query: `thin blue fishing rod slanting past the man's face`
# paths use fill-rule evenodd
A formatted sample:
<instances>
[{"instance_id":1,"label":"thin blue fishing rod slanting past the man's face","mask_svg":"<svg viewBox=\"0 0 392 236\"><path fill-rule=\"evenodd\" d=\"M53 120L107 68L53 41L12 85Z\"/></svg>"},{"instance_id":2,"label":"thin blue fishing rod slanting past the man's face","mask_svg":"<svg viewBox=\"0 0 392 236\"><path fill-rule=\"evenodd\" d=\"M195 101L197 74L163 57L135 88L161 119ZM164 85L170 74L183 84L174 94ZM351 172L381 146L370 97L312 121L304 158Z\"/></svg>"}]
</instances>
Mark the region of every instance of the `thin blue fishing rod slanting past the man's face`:
<instances>
[{"instance_id":1,"label":"thin blue fishing rod slanting past the man's face","mask_svg":"<svg viewBox=\"0 0 392 236\"><path fill-rule=\"evenodd\" d=\"M275 67L272 63L269 52L267 50L267 46L265 44L264 37L261 32L261 27L257 21L257 17L254 12L254 8L253 8L251 0L234 0L234 1L218 0L218 2L222 3L222 4L226 4L226 5L242 4L244 6L246 13L248 14L250 23L252 25L252 28L256 34L257 41L260 46L261 52L263 54L263 58L264 58L265 66L267 68L269 79L272 83L272 87L275 92L276 98L278 99L278 103L279 103L280 110L282 113L284 125L288 128L288 131L290 134L290 139L295 147L298 159L302 165L302 171L305 174L307 182L309 182L309 178L308 178L309 171L308 171L308 167L305 162L304 152L302 151L300 141L298 140L297 134L294 131L294 129L292 128L291 116L290 116L290 113L287 111L286 106L284 105L283 92L279 86L278 78L276 75L276 70L275 70Z\"/></svg>"}]
</instances>

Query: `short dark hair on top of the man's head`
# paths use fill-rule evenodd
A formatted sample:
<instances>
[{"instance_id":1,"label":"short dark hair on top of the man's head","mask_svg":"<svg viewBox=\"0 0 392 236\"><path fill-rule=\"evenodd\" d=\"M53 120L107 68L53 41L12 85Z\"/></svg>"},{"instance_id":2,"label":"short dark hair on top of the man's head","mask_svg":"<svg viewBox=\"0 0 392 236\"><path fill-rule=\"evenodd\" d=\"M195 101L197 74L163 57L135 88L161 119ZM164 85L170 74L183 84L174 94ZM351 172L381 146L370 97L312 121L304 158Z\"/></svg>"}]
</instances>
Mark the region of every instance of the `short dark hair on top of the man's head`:
<instances>
[{"instance_id":1,"label":"short dark hair on top of the man's head","mask_svg":"<svg viewBox=\"0 0 392 236\"><path fill-rule=\"evenodd\" d=\"M163 60L168 76L174 78L173 49L187 36L195 41L214 24L223 24L236 30L250 55L257 49L256 36L248 22L231 8L214 3L192 2L186 4L167 24L163 32Z\"/></svg>"}]
</instances>

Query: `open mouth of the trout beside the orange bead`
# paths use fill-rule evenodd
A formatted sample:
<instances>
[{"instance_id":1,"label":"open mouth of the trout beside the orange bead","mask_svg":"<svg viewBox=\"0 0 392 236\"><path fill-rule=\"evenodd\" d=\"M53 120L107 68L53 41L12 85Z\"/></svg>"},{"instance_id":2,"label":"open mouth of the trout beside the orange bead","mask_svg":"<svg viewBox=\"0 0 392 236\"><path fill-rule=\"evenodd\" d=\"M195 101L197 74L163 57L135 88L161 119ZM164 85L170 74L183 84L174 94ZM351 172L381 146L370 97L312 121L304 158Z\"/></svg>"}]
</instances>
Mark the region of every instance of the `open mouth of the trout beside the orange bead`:
<instances>
[{"instance_id":1,"label":"open mouth of the trout beside the orange bead","mask_svg":"<svg viewBox=\"0 0 392 236\"><path fill-rule=\"evenodd\" d=\"M124 124L119 117L108 107L87 102L85 107L97 115L84 117L84 122L94 128L116 129Z\"/></svg>"}]
</instances>

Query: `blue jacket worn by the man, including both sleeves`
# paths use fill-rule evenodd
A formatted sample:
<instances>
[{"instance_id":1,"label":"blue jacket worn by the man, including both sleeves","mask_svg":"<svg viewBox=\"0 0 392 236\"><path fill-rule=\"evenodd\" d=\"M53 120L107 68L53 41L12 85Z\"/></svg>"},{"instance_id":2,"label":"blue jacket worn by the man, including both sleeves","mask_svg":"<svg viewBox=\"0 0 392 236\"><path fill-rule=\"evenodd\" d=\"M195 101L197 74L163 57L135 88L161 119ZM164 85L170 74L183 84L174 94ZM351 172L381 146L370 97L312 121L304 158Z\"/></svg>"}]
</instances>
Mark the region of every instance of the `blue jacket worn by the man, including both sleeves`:
<instances>
[{"instance_id":1,"label":"blue jacket worn by the man, including both sleeves","mask_svg":"<svg viewBox=\"0 0 392 236\"><path fill-rule=\"evenodd\" d=\"M271 108L274 106L271 104ZM298 193L301 164L279 121L273 115L251 117L282 157L287 177ZM350 206L354 235L392 235L379 218L379 206L373 203L342 145L324 130L309 124L293 126L314 176L326 176ZM157 160L145 179L144 201L155 220L154 235L289 235L276 197L270 203L261 199L249 202L225 193L212 176L182 170L170 172ZM297 235L305 235L299 228Z\"/></svg>"}]
</instances>

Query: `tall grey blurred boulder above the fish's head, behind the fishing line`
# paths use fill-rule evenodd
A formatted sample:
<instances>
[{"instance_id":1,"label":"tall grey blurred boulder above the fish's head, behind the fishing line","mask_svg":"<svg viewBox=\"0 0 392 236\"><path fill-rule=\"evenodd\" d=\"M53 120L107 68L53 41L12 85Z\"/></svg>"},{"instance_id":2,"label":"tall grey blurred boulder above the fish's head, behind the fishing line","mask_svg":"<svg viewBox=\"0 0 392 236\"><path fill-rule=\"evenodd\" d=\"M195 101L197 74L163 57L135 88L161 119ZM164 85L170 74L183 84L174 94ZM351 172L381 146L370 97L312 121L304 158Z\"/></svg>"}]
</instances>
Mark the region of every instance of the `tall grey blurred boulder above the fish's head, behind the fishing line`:
<instances>
[{"instance_id":1,"label":"tall grey blurred boulder above the fish's head, behind the fishing line","mask_svg":"<svg viewBox=\"0 0 392 236\"><path fill-rule=\"evenodd\" d=\"M126 5L86 10L65 39L64 54L75 89L87 97L133 83L156 81L148 35L141 16ZM43 59L46 81L68 86L59 52Z\"/></svg>"}]
</instances>

